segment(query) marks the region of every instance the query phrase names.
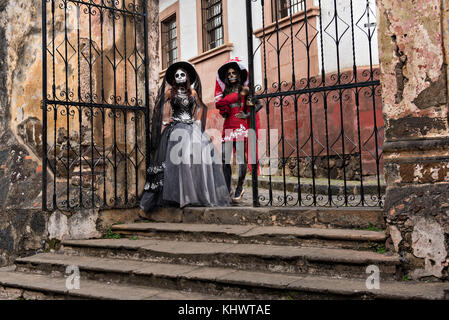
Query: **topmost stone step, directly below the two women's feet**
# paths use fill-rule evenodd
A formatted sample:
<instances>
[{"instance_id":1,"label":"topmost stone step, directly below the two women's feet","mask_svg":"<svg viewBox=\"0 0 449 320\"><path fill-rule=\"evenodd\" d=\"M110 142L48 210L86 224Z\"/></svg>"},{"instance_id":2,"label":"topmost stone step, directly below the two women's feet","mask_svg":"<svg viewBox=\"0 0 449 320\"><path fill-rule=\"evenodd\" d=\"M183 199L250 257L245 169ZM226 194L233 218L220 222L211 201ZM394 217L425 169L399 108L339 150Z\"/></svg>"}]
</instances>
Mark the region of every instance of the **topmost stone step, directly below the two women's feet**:
<instances>
[{"instance_id":1,"label":"topmost stone step, directly below the two women's feet","mask_svg":"<svg viewBox=\"0 0 449 320\"><path fill-rule=\"evenodd\" d=\"M148 218L157 222L385 229L380 208L215 207L162 208Z\"/></svg>"}]
</instances>

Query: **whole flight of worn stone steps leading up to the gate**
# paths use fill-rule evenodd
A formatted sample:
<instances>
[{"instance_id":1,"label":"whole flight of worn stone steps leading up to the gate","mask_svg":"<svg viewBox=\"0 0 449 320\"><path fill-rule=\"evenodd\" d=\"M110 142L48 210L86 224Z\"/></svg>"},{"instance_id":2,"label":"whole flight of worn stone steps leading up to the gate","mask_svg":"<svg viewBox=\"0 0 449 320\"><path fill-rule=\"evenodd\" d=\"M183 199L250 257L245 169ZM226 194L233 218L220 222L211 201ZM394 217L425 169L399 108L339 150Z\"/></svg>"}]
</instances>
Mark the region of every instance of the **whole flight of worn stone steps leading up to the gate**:
<instances>
[{"instance_id":1,"label":"whole flight of worn stone steps leading up to the gate","mask_svg":"<svg viewBox=\"0 0 449 320\"><path fill-rule=\"evenodd\" d=\"M164 209L113 226L115 239L63 241L58 252L17 259L0 271L0 297L448 298L447 283L403 281L399 257L384 252L381 217L379 209ZM370 265L380 289L366 286ZM78 290L66 289L68 266L80 270Z\"/></svg>"}]
</instances>

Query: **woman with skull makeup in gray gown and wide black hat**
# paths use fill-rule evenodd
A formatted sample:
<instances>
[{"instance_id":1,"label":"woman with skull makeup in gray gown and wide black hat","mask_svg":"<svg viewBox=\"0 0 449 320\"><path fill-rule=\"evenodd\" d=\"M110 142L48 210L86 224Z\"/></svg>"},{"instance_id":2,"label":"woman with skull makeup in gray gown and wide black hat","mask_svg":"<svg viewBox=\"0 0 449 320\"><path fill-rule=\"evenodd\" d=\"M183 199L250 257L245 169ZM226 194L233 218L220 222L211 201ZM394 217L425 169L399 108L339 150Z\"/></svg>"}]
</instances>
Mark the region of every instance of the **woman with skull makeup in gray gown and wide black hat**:
<instances>
[{"instance_id":1,"label":"woman with skull makeup in gray gown and wide black hat","mask_svg":"<svg viewBox=\"0 0 449 320\"><path fill-rule=\"evenodd\" d=\"M167 84L170 89L165 92ZM166 101L172 116L161 133ZM145 212L168 206L229 205L220 156L204 132L206 113L195 68L188 62L171 65L153 112L150 167L140 201Z\"/></svg>"}]
</instances>

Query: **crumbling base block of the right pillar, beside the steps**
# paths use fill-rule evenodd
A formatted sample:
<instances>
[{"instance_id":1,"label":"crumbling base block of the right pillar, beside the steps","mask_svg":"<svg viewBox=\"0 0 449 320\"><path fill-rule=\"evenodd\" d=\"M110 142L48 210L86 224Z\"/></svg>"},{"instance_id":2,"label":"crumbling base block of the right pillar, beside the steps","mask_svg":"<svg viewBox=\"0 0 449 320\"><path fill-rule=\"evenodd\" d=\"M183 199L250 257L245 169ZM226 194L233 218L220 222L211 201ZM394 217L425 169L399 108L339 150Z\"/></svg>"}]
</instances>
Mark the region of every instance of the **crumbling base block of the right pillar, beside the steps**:
<instances>
[{"instance_id":1,"label":"crumbling base block of the right pillar, beside the steps","mask_svg":"<svg viewBox=\"0 0 449 320\"><path fill-rule=\"evenodd\" d=\"M448 278L449 185L409 186L387 190L387 231L392 250L404 259L414 278Z\"/></svg>"}]
</instances>

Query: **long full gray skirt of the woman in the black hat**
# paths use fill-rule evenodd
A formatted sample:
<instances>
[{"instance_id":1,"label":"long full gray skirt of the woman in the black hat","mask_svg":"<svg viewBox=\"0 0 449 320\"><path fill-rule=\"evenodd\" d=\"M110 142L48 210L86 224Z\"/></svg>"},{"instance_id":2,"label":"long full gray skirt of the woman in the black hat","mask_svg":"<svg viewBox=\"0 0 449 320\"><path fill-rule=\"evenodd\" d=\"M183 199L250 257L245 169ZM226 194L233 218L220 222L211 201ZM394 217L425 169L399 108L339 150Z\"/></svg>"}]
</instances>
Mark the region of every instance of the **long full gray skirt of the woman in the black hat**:
<instances>
[{"instance_id":1,"label":"long full gray skirt of the woman in the black hat","mask_svg":"<svg viewBox=\"0 0 449 320\"><path fill-rule=\"evenodd\" d=\"M140 201L145 212L157 207L229 205L219 154L196 124L168 125L150 163Z\"/></svg>"}]
</instances>

